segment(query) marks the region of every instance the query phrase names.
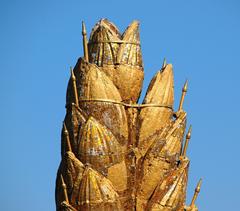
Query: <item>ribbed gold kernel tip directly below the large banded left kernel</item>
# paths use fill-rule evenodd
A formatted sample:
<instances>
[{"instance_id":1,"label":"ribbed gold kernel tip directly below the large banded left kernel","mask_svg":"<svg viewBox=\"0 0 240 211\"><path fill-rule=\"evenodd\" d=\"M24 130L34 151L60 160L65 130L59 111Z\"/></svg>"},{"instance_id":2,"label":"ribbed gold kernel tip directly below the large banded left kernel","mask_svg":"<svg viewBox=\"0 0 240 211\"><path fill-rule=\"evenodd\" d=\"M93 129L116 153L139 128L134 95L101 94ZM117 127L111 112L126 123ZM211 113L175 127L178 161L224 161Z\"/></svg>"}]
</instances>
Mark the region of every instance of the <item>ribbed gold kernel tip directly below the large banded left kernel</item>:
<instances>
[{"instance_id":1,"label":"ribbed gold kernel tip directly below the large banded left kernel","mask_svg":"<svg viewBox=\"0 0 240 211\"><path fill-rule=\"evenodd\" d=\"M106 173L107 168L124 159L122 146L111 131L90 117L81 129L78 157L84 164Z\"/></svg>"}]
</instances>

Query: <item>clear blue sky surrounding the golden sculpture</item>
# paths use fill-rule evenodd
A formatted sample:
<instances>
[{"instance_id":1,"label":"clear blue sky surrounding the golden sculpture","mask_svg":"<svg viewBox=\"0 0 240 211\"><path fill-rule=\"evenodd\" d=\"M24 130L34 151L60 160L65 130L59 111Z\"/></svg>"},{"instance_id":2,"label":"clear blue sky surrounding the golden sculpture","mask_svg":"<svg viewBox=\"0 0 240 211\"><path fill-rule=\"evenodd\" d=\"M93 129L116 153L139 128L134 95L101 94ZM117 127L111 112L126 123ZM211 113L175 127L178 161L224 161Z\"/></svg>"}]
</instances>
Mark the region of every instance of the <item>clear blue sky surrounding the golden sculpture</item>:
<instances>
[{"instance_id":1,"label":"clear blue sky surrounding the golden sculpture","mask_svg":"<svg viewBox=\"0 0 240 211\"><path fill-rule=\"evenodd\" d=\"M164 57L175 108L189 80L188 203L202 177L200 211L240 210L238 0L1 0L0 210L55 210L69 66L83 54L81 21L89 36L101 17L121 31L141 22L143 94Z\"/></svg>"}]
</instances>

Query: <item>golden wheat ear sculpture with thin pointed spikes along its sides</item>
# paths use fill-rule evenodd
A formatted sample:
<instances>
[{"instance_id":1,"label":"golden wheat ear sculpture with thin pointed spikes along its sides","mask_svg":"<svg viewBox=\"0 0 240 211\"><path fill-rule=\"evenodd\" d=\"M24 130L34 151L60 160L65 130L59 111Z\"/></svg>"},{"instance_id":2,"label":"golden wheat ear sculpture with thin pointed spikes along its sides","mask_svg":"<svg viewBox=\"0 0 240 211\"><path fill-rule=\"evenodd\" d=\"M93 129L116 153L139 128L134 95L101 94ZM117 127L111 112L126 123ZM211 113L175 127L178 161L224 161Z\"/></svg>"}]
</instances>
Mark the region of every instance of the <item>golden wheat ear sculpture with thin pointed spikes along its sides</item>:
<instances>
[{"instance_id":1,"label":"golden wheat ear sculpture with thin pointed spikes along its sides","mask_svg":"<svg viewBox=\"0 0 240 211\"><path fill-rule=\"evenodd\" d=\"M182 89L174 105L173 66L164 59L142 104L144 78L139 22L123 34L107 19L71 70L56 180L57 211L197 211L199 181L186 206L192 127Z\"/></svg>"}]
</instances>

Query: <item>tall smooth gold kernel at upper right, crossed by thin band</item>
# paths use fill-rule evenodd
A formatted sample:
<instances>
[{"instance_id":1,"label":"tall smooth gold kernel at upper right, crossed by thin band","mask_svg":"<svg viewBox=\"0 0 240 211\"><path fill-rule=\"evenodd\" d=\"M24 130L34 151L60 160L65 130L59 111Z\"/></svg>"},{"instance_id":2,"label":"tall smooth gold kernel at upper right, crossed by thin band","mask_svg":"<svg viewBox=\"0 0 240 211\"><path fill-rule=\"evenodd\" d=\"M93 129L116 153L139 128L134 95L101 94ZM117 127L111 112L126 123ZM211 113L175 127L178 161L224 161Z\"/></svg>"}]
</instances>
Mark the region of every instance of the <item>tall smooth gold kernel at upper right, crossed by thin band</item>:
<instances>
[{"instance_id":1,"label":"tall smooth gold kernel at upper right, crossed by thin band","mask_svg":"<svg viewBox=\"0 0 240 211\"><path fill-rule=\"evenodd\" d=\"M174 100L173 86L172 65L168 64L163 70L158 71L152 79L143 103L172 107ZM143 155L154 141L152 136L161 132L163 127L170 122L172 115L173 111L167 107L146 107L141 110L139 116L139 149Z\"/></svg>"}]
</instances>

